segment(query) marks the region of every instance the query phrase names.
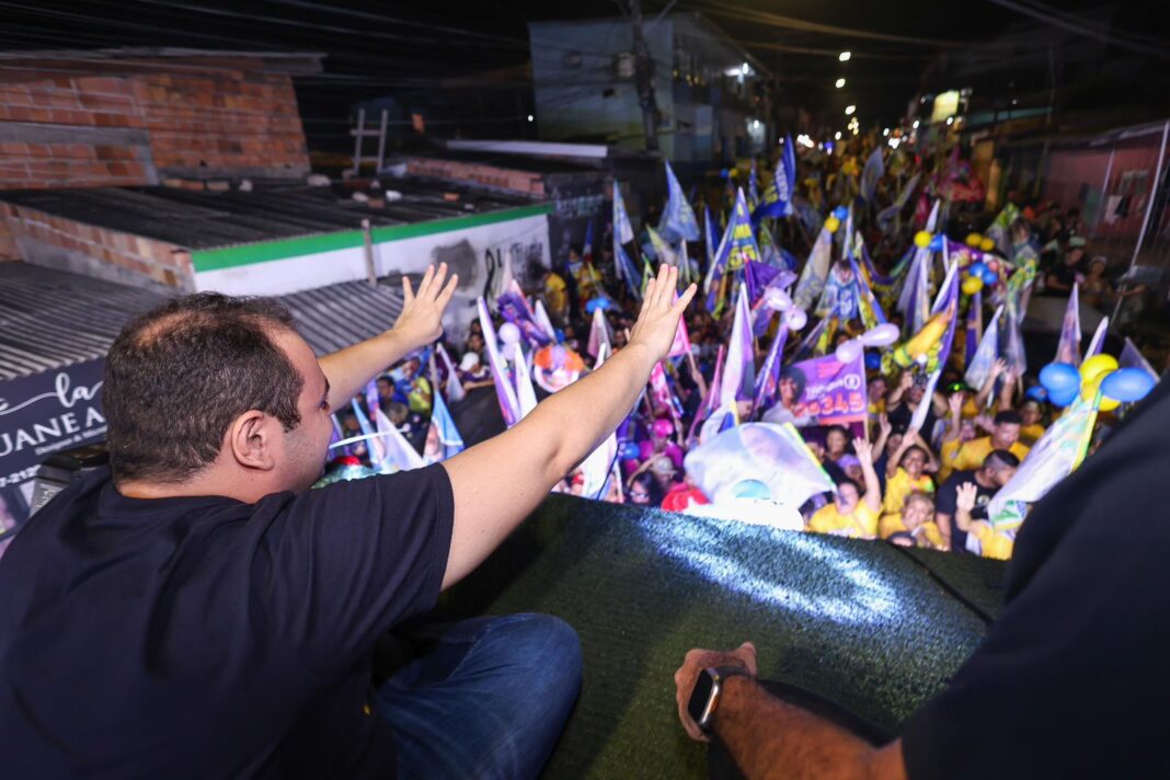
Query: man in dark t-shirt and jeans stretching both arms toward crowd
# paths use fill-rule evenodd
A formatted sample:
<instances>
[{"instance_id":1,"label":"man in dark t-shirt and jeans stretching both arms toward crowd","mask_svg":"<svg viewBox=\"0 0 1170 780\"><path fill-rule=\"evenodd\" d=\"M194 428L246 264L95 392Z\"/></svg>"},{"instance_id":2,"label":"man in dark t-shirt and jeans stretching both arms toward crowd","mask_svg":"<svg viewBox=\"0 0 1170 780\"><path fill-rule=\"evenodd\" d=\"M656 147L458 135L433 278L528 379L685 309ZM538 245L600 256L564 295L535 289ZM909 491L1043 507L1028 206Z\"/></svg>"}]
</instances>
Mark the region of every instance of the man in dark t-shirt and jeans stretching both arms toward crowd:
<instances>
[{"instance_id":1,"label":"man in dark t-shirt and jeans stretching both arms toward crowd","mask_svg":"<svg viewBox=\"0 0 1170 780\"><path fill-rule=\"evenodd\" d=\"M508 432L424 469L308 490L330 409L441 333L428 269L395 326L318 360L281 306L200 294L106 360L110 469L0 559L5 778L535 776L577 696L549 616L415 628L629 412L691 288L647 288L629 345Z\"/></svg>"}]
</instances>

